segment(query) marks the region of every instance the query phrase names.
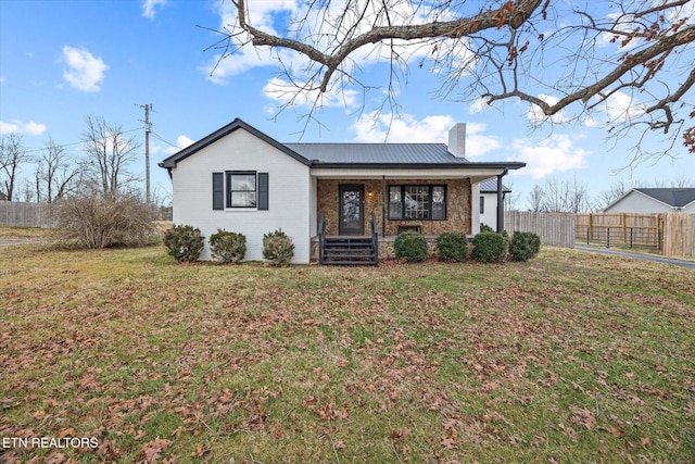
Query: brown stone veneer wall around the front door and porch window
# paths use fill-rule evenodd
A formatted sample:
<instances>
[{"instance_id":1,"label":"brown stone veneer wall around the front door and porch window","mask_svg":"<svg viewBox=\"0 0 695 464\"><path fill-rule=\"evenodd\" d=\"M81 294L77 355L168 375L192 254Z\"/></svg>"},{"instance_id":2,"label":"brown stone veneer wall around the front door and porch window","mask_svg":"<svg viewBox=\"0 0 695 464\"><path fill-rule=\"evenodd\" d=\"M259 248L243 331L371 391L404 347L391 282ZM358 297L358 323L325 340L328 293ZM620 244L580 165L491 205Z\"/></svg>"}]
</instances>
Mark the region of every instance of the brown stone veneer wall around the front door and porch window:
<instances>
[{"instance_id":1,"label":"brown stone veneer wall around the front door and porch window","mask_svg":"<svg viewBox=\"0 0 695 464\"><path fill-rule=\"evenodd\" d=\"M369 218L371 212L377 213L377 227L381 236L382 203L381 203L381 179L318 179L316 187L317 217L321 212L326 214L326 233L338 235L338 208L339 188L341 184L362 184L365 186L365 234L369 234ZM387 179L386 195L389 195L391 185L446 185L446 221L413 220L405 221L405 224L418 224L422 227L422 235L435 236L443 231L471 233L470 222L470 179ZM372 196L369 197L369 192ZM388 217L388 204L386 208ZM399 233L401 221L389 221L387 218L387 235L394 236Z\"/></svg>"}]
</instances>

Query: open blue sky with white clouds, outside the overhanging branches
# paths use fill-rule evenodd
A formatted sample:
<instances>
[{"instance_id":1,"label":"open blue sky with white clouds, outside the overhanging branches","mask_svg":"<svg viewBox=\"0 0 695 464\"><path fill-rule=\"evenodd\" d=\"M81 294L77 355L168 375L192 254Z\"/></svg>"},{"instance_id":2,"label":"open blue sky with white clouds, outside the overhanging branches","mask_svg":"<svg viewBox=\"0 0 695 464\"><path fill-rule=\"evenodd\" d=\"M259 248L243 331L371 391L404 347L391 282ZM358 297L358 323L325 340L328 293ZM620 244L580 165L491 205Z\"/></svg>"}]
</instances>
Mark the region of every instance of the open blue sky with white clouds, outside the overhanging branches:
<instances>
[{"instance_id":1,"label":"open blue sky with white clouds, outside the overhanging branches","mask_svg":"<svg viewBox=\"0 0 695 464\"><path fill-rule=\"evenodd\" d=\"M253 8L256 24L273 28L296 7L285 0ZM320 125L305 126L307 106L301 101L277 114L285 103L277 92L282 80L266 52L247 48L217 63L220 51L211 46L220 36L207 28L223 27L229 14L229 2L220 0L0 0L0 131L21 133L29 150L42 148L50 135L78 154L87 115L132 129L143 142L140 105L152 104L152 188L159 196L170 191L170 183L156 163L235 117L287 142L445 142L446 130L465 122L471 161L528 163L506 178L522 195L521 209L531 188L549 178L576 178L594 196L620 179L695 181L695 156L680 140L670 156L629 167L634 141L606 140L599 122L533 128L536 117L526 103L483 109L444 101L434 96L440 81L429 66L410 67L390 130L388 110L372 116L379 92L368 93L363 109L356 89L327 96L315 114ZM362 64L366 80L386 83L383 63ZM657 147L657 137L646 143ZM140 160L134 172L144 172ZM22 174L31 176L31 166Z\"/></svg>"}]
</instances>

